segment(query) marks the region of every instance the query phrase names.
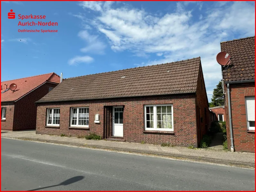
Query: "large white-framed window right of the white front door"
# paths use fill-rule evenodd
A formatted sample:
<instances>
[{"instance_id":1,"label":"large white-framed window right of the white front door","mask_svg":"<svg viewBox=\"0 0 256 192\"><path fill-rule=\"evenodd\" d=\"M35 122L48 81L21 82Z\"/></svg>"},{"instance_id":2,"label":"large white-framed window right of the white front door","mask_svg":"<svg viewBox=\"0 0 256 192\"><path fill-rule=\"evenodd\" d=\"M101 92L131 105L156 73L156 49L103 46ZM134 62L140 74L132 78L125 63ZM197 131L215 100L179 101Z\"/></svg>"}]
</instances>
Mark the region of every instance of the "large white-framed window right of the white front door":
<instances>
[{"instance_id":1,"label":"large white-framed window right of the white front door","mask_svg":"<svg viewBox=\"0 0 256 192\"><path fill-rule=\"evenodd\" d=\"M173 105L145 105L145 130L173 131Z\"/></svg>"}]
</instances>

